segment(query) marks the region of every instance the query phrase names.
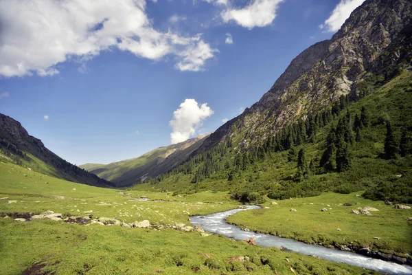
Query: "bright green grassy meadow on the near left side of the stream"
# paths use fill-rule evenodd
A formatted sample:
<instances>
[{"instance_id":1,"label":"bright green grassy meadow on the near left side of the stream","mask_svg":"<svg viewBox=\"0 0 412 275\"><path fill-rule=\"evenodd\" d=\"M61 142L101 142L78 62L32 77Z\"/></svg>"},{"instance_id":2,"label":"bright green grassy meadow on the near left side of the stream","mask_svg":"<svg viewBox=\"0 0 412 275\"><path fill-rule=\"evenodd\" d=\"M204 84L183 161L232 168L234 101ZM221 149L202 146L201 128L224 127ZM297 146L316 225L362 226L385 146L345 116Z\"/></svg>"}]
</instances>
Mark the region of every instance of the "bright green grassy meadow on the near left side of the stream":
<instances>
[{"instance_id":1,"label":"bright green grassy meadow on the near left side of the stream","mask_svg":"<svg viewBox=\"0 0 412 275\"><path fill-rule=\"evenodd\" d=\"M1 162L0 175L1 216L53 210L63 217L92 212L126 222L190 224L191 214L237 207L227 192L172 196L95 188ZM169 201L130 201L145 196ZM376 274L219 235L12 218L0 219L0 267L0 274Z\"/></svg>"}]
</instances>

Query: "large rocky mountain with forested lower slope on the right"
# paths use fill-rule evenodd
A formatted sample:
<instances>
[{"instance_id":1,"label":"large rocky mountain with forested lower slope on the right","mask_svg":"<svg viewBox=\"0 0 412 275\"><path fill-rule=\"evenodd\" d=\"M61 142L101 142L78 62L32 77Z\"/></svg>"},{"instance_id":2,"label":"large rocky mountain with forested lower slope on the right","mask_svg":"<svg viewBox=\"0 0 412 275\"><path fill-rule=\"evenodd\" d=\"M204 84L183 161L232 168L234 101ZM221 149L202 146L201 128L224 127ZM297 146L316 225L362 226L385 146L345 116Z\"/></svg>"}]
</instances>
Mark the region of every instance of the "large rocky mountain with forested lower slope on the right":
<instances>
[{"instance_id":1,"label":"large rocky mountain with forested lower slope on the right","mask_svg":"<svg viewBox=\"0 0 412 275\"><path fill-rule=\"evenodd\" d=\"M411 1L366 0L186 162L135 188L412 201L411 19Z\"/></svg>"}]
</instances>

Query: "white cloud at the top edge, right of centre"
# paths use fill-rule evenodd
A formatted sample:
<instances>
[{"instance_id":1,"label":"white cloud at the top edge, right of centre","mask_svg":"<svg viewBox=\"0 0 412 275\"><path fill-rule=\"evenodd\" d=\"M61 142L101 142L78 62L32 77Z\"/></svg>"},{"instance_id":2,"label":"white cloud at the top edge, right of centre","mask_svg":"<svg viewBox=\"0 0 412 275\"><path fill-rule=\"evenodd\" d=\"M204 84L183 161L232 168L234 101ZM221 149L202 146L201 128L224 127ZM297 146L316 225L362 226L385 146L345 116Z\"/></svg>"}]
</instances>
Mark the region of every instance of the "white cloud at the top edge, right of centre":
<instances>
[{"instance_id":1,"label":"white cloud at the top edge, right of centre","mask_svg":"<svg viewBox=\"0 0 412 275\"><path fill-rule=\"evenodd\" d=\"M270 25L276 17L279 3L284 0L254 0L244 8L228 8L221 15L223 21L235 21L244 28L265 27Z\"/></svg>"}]
</instances>

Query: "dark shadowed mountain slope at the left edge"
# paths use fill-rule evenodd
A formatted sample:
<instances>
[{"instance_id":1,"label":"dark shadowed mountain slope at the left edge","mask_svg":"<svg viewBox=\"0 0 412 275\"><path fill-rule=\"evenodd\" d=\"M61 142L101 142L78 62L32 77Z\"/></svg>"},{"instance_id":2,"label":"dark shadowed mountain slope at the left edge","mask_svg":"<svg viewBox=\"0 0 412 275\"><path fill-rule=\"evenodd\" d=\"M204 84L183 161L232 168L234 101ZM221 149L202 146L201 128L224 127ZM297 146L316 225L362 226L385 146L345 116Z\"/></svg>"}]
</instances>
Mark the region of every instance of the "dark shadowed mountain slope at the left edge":
<instances>
[{"instance_id":1,"label":"dark shadowed mountain slope at the left edge","mask_svg":"<svg viewBox=\"0 0 412 275\"><path fill-rule=\"evenodd\" d=\"M113 184L70 164L32 137L20 122L0 113L0 161L13 162L37 172L91 186Z\"/></svg>"}]
</instances>

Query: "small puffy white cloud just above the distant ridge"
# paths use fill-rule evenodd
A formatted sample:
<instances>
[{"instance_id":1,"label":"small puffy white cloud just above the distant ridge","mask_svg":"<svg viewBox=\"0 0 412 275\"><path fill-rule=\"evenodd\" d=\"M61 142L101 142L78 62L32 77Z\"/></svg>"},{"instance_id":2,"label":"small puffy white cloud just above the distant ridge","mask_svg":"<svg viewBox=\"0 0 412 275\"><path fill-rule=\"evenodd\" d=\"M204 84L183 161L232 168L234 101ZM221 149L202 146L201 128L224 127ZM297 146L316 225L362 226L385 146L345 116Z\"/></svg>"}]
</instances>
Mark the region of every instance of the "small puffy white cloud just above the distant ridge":
<instances>
[{"instance_id":1,"label":"small puffy white cloud just above the distant ridge","mask_svg":"<svg viewBox=\"0 0 412 275\"><path fill-rule=\"evenodd\" d=\"M173 130L170 133L170 143L184 142L194 136L196 130L202 126L203 120L213 113L214 111L207 106L207 103L203 103L199 107L196 100L185 99L179 105L179 109L173 112L173 119L169 122Z\"/></svg>"}]
</instances>

